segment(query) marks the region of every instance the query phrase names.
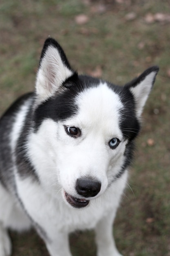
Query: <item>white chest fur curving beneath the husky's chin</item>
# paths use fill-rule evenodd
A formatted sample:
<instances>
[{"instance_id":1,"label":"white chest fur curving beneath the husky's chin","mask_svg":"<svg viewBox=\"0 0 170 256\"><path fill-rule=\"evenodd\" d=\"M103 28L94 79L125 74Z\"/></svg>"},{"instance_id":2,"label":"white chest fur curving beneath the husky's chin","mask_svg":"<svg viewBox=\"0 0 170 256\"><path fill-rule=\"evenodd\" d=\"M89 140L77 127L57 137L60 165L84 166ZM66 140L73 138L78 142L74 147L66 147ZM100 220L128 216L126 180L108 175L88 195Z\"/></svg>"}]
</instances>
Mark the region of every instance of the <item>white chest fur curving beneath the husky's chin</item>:
<instances>
[{"instance_id":1,"label":"white chest fur curving beneath the husky's chin","mask_svg":"<svg viewBox=\"0 0 170 256\"><path fill-rule=\"evenodd\" d=\"M61 193L55 198L46 193L37 183L30 179L18 179L18 193L26 211L33 220L45 230L55 232L55 229L66 232L94 228L97 222L108 211L117 208L123 186L119 190L111 186L107 193L91 200L88 207L75 209L64 202Z\"/></svg>"}]
</instances>

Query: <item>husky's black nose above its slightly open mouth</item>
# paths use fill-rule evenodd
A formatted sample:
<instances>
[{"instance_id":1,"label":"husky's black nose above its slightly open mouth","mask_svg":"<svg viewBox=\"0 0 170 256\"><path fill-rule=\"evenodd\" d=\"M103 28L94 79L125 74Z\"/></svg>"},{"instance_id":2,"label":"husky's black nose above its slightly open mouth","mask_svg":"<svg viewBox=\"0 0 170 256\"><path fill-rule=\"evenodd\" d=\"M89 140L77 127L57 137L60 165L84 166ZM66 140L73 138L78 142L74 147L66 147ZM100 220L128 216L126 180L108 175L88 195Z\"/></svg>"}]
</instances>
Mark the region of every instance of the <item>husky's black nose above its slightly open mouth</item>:
<instances>
[{"instance_id":1,"label":"husky's black nose above its slightly open mouth","mask_svg":"<svg viewBox=\"0 0 170 256\"><path fill-rule=\"evenodd\" d=\"M81 178L77 179L75 188L79 195L88 198L99 193L101 189L101 182L92 179Z\"/></svg>"}]
</instances>

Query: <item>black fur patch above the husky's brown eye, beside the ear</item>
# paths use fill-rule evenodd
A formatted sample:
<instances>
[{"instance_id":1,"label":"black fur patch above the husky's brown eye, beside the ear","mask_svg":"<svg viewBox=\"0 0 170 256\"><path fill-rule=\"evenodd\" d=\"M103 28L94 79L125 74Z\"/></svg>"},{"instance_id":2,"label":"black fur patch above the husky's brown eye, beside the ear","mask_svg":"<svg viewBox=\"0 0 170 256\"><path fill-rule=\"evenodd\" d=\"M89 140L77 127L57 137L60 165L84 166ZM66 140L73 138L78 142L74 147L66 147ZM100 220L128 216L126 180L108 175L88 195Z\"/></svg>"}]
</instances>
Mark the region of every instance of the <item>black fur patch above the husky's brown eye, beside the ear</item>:
<instances>
[{"instance_id":1,"label":"black fur patch above the husky's brown eye, beside the ear","mask_svg":"<svg viewBox=\"0 0 170 256\"><path fill-rule=\"evenodd\" d=\"M56 93L53 97L42 102L34 113L34 128L38 130L42 121L51 118L55 121L66 120L78 112L78 106L75 103L77 94L86 88L93 88L99 85L99 79L93 79L88 76L78 76L74 73L62 85L65 89Z\"/></svg>"}]
</instances>

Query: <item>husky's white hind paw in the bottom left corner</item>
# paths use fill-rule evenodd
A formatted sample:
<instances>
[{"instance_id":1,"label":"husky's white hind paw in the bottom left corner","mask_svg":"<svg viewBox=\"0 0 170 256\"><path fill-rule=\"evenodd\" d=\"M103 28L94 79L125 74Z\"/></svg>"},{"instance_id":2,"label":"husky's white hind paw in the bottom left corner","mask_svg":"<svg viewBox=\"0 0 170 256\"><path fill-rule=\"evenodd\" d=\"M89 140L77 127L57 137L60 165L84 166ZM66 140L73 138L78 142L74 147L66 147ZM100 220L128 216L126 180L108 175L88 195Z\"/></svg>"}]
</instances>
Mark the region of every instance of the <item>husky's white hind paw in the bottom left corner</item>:
<instances>
[{"instance_id":1,"label":"husky's white hind paw in the bottom left corner","mask_svg":"<svg viewBox=\"0 0 170 256\"><path fill-rule=\"evenodd\" d=\"M0 256L11 255L11 241L7 230L0 226Z\"/></svg>"}]
</instances>

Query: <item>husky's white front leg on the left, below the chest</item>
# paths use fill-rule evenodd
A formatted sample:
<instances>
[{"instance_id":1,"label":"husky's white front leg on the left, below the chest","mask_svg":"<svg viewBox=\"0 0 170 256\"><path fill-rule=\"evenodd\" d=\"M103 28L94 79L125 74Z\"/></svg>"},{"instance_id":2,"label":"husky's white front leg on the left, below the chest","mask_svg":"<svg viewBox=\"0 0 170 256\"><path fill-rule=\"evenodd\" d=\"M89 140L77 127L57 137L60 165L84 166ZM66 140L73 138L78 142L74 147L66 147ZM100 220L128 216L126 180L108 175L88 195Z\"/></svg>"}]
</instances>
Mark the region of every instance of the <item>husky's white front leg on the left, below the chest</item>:
<instances>
[{"instance_id":1,"label":"husky's white front leg on the left, below the chest","mask_svg":"<svg viewBox=\"0 0 170 256\"><path fill-rule=\"evenodd\" d=\"M68 234L59 233L57 239L46 241L46 247L51 256L71 256Z\"/></svg>"}]
</instances>

